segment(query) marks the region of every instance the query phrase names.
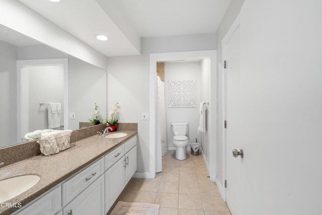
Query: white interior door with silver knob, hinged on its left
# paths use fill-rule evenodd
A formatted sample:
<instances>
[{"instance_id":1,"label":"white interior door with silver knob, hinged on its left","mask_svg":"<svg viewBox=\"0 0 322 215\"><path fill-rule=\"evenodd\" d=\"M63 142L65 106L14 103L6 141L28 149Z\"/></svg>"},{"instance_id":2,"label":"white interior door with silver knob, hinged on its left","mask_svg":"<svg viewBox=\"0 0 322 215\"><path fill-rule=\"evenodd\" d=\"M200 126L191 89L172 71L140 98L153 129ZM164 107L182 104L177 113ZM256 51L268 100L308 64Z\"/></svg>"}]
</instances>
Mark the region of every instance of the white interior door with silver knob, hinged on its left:
<instances>
[{"instance_id":1,"label":"white interior door with silver knob, hinged on its left","mask_svg":"<svg viewBox=\"0 0 322 215\"><path fill-rule=\"evenodd\" d=\"M240 151L240 57L239 27L224 46L226 69L225 75L225 119L226 119L226 203L233 215L238 214L241 198L241 169L243 159L234 158L232 151Z\"/></svg>"}]
</instances>

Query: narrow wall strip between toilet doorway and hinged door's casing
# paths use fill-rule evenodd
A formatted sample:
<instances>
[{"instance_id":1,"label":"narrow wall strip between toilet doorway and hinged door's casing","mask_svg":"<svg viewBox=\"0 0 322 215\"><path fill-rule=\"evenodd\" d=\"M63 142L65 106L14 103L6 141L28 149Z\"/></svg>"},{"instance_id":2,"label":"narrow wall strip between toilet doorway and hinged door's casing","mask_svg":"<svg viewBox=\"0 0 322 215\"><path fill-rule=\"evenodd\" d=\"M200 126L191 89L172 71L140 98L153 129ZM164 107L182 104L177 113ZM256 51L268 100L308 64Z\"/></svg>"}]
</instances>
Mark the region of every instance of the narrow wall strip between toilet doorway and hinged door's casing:
<instances>
[{"instance_id":1,"label":"narrow wall strip between toilet doorway and hinged door's casing","mask_svg":"<svg viewBox=\"0 0 322 215\"><path fill-rule=\"evenodd\" d=\"M222 161L222 47L221 41L226 35L229 27L237 17L244 0L231 0L225 15L223 16L219 27L216 31L216 47L217 47L217 181L223 184L223 161Z\"/></svg>"}]
</instances>

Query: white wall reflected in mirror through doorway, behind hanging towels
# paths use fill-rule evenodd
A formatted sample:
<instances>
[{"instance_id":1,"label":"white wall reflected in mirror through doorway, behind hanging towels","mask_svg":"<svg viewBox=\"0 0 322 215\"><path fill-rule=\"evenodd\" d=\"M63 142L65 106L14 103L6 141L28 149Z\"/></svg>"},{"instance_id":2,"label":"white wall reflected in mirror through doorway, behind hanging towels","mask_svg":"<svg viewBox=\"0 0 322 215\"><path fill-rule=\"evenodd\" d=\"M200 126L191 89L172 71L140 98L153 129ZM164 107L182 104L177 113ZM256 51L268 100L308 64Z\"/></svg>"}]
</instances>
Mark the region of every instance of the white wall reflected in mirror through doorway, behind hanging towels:
<instances>
[{"instance_id":1,"label":"white wall reflected in mirror through doorway, behind hanging towels","mask_svg":"<svg viewBox=\"0 0 322 215\"><path fill-rule=\"evenodd\" d=\"M25 72L25 71L24 71ZM64 124L64 69L63 65L28 66L29 131L48 128L48 105L62 104L60 125ZM40 81L41 80L41 81Z\"/></svg>"}]
</instances>

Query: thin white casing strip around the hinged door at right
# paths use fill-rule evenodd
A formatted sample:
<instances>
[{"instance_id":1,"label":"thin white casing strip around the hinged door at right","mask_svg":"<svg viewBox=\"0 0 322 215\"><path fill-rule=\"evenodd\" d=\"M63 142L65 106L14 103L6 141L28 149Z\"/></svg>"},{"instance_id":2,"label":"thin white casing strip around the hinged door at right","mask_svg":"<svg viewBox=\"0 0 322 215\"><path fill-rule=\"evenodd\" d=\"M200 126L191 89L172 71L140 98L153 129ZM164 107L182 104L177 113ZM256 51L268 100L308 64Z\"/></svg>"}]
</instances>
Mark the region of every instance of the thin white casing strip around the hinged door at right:
<instances>
[{"instance_id":1,"label":"thin white casing strip around the hinged door at right","mask_svg":"<svg viewBox=\"0 0 322 215\"><path fill-rule=\"evenodd\" d=\"M232 36L235 34L236 30L239 28L240 20L239 20L239 15L236 17L235 21L232 23L230 26L229 30L227 31L226 35L223 37L221 40L221 47L222 47L222 63L221 63L221 92L222 92L222 121L221 121L221 127L222 127L222 183L224 184L224 181L226 180L226 171L227 171L227 166L226 166L226 130L224 128L224 121L226 120L226 92L225 92L225 83L226 83L226 68L224 68L224 60L225 60L225 50L226 50L226 45L232 38ZM221 192L223 200L226 202L226 188L221 185L221 189L219 189Z\"/></svg>"}]
</instances>

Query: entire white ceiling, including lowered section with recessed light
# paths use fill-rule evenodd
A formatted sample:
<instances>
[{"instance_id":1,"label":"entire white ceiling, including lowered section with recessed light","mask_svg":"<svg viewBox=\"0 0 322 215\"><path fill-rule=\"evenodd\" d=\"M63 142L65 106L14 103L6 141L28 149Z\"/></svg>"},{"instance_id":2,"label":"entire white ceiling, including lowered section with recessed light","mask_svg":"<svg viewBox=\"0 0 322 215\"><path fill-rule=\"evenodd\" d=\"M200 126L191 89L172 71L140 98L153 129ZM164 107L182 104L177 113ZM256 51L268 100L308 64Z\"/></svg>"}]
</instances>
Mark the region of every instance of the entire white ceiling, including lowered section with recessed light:
<instances>
[{"instance_id":1,"label":"entire white ceiling, including lowered section with recessed light","mask_svg":"<svg viewBox=\"0 0 322 215\"><path fill-rule=\"evenodd\" d=\"M140 38L215 33L230 0L18 0L106 56L140 54ZM110 39L99 41L96 34Z\"/></svg>"}]
</instances>

